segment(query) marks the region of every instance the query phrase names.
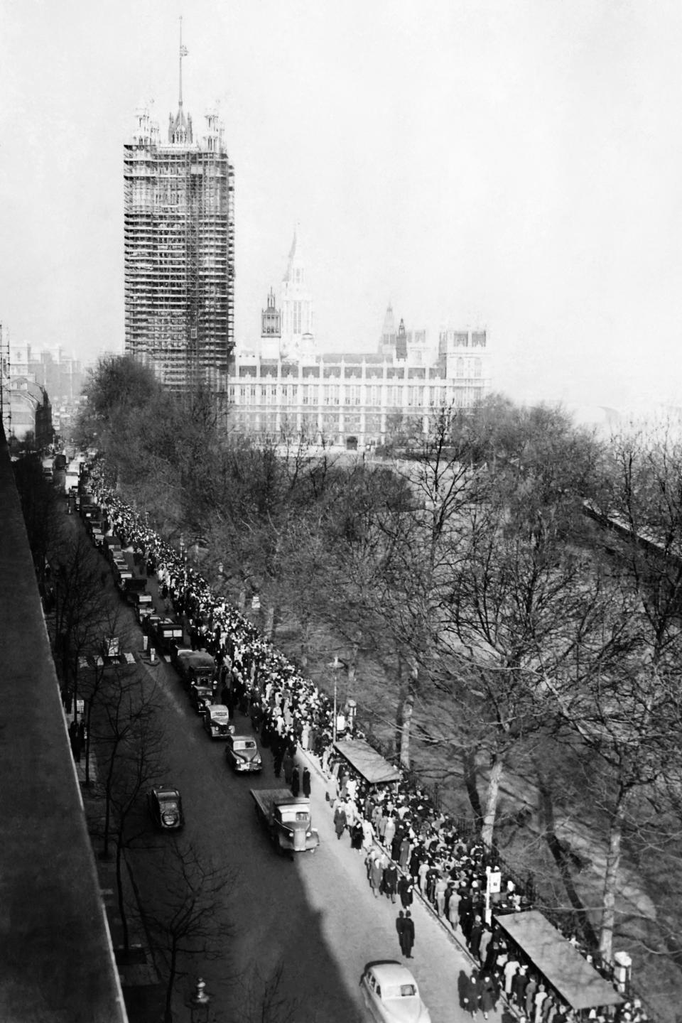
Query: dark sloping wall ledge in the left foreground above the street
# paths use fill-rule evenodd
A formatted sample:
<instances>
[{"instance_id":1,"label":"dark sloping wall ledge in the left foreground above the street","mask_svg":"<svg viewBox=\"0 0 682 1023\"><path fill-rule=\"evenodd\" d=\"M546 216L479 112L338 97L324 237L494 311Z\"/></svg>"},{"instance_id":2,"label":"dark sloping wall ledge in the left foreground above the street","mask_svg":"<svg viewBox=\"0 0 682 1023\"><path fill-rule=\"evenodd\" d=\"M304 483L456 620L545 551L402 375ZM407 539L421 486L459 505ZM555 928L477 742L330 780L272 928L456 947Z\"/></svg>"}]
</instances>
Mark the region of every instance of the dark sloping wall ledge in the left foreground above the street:
<instances>
[{"instance_id":1,"label":"dark sloping wall ledge in the left foreground above the street","mask_svg":"<svg viewBox=\"0 0 682 1023\"><path fill-rule=\"evenodd\" d=\"M0 830L0 1019L125 1023L29 541L1 432Z\"/></svg>"}]
</instances>

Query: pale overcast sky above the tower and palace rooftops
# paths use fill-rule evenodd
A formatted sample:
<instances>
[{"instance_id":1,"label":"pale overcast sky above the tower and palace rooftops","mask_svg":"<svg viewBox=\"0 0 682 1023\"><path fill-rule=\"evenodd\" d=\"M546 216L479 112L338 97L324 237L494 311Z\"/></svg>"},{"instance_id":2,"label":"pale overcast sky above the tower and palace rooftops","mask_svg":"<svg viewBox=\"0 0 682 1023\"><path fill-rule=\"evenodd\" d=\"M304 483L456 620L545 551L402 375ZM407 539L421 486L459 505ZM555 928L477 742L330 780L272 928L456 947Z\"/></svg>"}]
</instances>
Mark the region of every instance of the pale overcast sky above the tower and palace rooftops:
<instances>
[{"instance_id":1,"label":"pale overcast sky above the tower and palace rooftops","mask_svg":"<svg viewBox=\"0 0 682 1023\"><path fill-rule=\"evenodd\" d=\"M0 320L123 348L123 143L218 101L236 332L301 222L320 348L485 326L516 400L680 402L679 0L1 0Z\"/></svg>"}]
</instances>

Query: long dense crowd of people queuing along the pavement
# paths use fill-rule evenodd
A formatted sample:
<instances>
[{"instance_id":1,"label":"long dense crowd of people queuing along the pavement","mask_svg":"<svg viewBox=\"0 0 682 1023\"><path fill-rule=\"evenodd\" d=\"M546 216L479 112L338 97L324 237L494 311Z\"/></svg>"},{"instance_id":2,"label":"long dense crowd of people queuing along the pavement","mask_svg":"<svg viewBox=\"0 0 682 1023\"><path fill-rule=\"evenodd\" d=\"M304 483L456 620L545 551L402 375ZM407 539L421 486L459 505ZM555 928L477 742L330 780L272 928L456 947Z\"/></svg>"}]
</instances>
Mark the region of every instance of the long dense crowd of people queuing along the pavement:
<instances>
[{"instance_id":1,"label":"long dense crowd of people queuing along the pavement","mask_svg":"<svg viewBox=\"0 0 682 1023\"><path fill-rule=\"evenodd\" d=\"M261 745L272 753L275 774L283 771L294 794L310 795L310 770L302 768L295 756L304 750L317 758L328 779L326 800L338 841L346 838L364 857L374 897L400 902L402 916L396 926L403 953L411 955L410 907L418 893L476 964L459 982L460 1004L472 1017L481 1012L488 1018L503 992L528 1023L577 1019L534 972L532 963L505 941L487 911L530 908L527 892L501 874L480 842L458 835L453 819L439 810L427 792L406 781L371 785L338 757L328 697L261 636L248 618L214 594L201 575L187 566L184 554L113 493L96 470L89 489L104 516L105 532L118 535L136 563L156 575L166 610L183 620L192 649L213 656L216 699L230 713L238 708L251 718ZM491 873L495 884L490 883ZM572 941L577 944L575 938ZM595 1012L592 1017L607 1019ZM635 1000L619 1007L615 1023L646 1020Z\"/></svg>"}]
</instances>

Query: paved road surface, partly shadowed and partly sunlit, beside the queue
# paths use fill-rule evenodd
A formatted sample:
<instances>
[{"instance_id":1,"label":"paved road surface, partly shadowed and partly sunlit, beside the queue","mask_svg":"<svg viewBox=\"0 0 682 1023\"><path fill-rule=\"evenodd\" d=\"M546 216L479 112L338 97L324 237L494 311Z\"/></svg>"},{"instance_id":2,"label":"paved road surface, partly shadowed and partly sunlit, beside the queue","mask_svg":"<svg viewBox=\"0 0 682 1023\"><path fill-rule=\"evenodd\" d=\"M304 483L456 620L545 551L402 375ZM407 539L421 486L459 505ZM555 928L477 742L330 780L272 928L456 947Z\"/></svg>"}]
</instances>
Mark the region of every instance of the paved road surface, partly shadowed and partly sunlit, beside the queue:
<instances>
[{"instance_id":1,"label":"paved road surface, partly shadowed and partly sunlit, beside the queue","mask_svg":"<svg viewBox=\"0 0 682 1023\"><path fill-rule=\"evenodd\" d=\"M133 634L141 636L137 627ZM157 781L173 783L182 792L183 840L190 840L204 859L230 864L237 878L219 906L233 925L233 935L219 959L181 962L187 979L175 1003L176 1018L187 1018L182 991L188 992L200 974L213 994L216 1020L246 1019L243 978L255 966L265 976L281 965L282 993L295 1004L293 1023L362 1023L367 1017L358 981L364 964L401 959L395 929L399 905L374 898L363 857L350 848L347 837L336 840L322 779L313 770L319 849L294 860L277 856L248 792L283 785L274 777L269 751L263 751L261 775L235 776L225 763L224 745L212 742L201 728L174 669L164 662L144 666L141 677L157 690L165 731L164 775ZM246 719L238 717L236 723L238 730L251 731ZM153 902L164 886L167 837L154 836L150 829L148 835L155 848L140 849L131 859L142 900ZM409 966L434 1023L470 1020L457 996L460 971L470 968L467 958L423 905L415 903L412 911L416 941ZM511 1018L491 1014L491 1020Z\"/></svg>"}]
</instances>

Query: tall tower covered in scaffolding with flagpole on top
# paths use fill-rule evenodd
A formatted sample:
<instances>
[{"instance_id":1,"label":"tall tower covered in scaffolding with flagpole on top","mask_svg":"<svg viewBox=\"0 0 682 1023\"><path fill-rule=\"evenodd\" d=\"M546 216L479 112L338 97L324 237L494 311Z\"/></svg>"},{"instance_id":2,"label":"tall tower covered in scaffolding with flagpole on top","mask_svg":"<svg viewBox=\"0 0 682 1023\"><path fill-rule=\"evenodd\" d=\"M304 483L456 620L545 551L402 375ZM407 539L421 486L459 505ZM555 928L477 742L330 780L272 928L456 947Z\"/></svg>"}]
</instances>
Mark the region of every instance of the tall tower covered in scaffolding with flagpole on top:
<instances>
[{"instance_id":1,"label":"tall tower covered in scaffolding with flagpole on top","mask_svg":"<svg viewBox=\"0 0 682 1023\"><path fill-rule=\"evenodd\" d=\"M215 112L194 141L180 90L168 142L147 109L125 146L126 353L169 388L223 388L234 347L234 168Z\"/></svg>"}]
</instances>

